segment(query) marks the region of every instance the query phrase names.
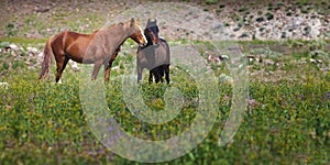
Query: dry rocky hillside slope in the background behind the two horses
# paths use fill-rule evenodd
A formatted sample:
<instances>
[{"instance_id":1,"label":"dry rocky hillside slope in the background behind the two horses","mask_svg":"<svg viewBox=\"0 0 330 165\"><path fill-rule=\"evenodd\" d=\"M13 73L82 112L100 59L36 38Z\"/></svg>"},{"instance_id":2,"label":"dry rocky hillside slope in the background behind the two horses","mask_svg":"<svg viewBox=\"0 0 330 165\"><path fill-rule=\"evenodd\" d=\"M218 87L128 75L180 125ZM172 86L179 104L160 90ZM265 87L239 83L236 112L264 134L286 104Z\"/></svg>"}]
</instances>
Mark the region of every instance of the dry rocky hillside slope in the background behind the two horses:
<instances>
[{"instance_id":1,"label":"dry rocky hillside slope in the background behind the two horses","mask_svg":"<svg viewBox=\"0 0 330 165\"><path fill-rule=\"evenodd\" d=\"M63 30L89 33L132 15L141 22L157 18L162 35L169 40L218 33L226 40L329 40L329 11L327 0L11 0L0 2L0 37L43 38Z\"/></svg>"}]
</instances>

